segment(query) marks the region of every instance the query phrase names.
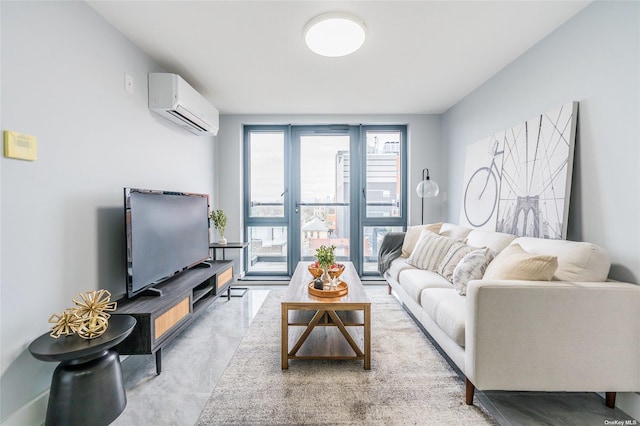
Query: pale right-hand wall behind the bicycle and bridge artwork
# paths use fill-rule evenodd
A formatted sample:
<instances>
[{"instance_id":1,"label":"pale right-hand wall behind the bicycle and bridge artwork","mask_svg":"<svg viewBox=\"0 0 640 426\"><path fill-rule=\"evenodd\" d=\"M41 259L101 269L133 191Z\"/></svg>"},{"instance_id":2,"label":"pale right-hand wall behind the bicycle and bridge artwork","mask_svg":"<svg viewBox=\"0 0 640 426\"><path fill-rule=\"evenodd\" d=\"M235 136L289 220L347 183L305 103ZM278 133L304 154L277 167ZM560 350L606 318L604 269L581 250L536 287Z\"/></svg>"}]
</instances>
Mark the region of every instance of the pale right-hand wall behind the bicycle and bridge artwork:
<instances>
[{"instance_id":1,"label":"pale right-hand wall behind the bicycle and bridge artwork","mask_svg":"<svg viewBox=\"0 0 640 426\"><path fill-rule=\"evenodd\" d=\"M447 216L460 215L467 145L579 101L568 239L604 247L610 276L639 283L639 40L639 3L594 2L447 111ZM626 410L640 418L633 398Z\"/></svg>"}]
</instances>

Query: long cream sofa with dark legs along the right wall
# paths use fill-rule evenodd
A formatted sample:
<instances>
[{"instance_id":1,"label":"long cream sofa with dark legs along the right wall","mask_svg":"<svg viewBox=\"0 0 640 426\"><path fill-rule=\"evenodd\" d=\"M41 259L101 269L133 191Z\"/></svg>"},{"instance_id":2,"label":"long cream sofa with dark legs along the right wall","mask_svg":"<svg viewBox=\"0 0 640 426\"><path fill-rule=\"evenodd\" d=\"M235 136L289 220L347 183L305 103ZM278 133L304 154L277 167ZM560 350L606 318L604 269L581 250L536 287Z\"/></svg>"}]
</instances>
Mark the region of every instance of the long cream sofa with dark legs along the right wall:
<instances>
[{"instance_id":1,"label":"long cream sofa with dark legs along the right wall","mask_svg":"<svg viewBox=\"0 0 640 426\"><path fill-rule=\"evenodd\" d=\"M467 404L475 389L594 391L613 408L616 392L640 391L640 286L607 281L603 249L448 223L438 234L489 247L497 254L491 263L515 244L557 257L550 281L483 277L469 281L463 296L437 272L408 264L407 253L392 261L387 253L381 272L389 292L466 376Z\"/></svg>"}]
</instances>

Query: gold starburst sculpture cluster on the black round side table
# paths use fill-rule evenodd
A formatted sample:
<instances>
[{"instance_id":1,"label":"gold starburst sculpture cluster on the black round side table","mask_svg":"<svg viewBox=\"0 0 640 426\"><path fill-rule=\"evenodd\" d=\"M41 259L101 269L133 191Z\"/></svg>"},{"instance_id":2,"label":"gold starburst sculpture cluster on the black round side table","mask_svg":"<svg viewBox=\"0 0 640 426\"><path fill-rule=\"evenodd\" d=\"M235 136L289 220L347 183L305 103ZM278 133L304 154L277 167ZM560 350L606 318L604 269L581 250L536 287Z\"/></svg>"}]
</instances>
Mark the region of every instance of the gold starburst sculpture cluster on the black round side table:
<instances>
[{"instance_id":1,"label":"gold starburst sculpture cluster on the black round side table","mask_svg":"<svg viewBox=\"0 0 640 426\"><path fill-rule=\"evenodd\" d=\"M117 303L111 302L111 293L107 290L87 291L73 299L75 308L65 310L61 315L53 314L50 323L50 336L58 338L62 335L78 333L83 339L94 339L104 334L109 327L108 312L116 310Z\"/></svg>"}]
</instances>

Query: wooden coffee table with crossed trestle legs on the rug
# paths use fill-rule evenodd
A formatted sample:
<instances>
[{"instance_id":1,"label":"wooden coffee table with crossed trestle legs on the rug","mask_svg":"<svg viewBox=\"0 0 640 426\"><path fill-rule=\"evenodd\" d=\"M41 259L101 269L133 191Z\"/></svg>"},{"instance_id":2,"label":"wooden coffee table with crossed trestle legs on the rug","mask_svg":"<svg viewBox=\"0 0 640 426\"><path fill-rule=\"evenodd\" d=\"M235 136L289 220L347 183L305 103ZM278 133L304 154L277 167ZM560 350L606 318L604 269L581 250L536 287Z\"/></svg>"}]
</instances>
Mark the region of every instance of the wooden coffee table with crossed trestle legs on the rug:
<instances>
[{"instance_id":1,"label":"wooden coffee table with crossed trestle legs on the rug","mask_svg":"<svg viewBox=\"0 0 640 426\"><path fill-rule=\"evenodd\" d=\"M298 263L282 301L282 368L290 359L361 359L370 370L371 301L353 264L340 276L349 292L328 298L309 294L309 263Z\"/></svg>"}]
</instances>

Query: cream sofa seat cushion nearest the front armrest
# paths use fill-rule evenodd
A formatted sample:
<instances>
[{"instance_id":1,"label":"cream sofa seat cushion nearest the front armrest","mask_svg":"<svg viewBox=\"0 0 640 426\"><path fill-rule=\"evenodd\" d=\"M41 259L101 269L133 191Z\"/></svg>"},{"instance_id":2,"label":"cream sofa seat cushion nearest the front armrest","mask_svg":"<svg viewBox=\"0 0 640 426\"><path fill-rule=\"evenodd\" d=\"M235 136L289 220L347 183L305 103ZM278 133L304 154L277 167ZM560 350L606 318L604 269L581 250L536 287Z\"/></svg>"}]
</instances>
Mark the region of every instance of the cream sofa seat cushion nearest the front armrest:
<instances>
[{"instance_id":1,"label":"cream sofa seat cushion nearest the front armrest","mask_svg":"<svg viewBox=\"0 0 640 426\"><path fill-rule=\"evenodd\" d=\"M428 288L422 291L422 308L447 336L464 347L466 298L452 289Z\"/></svg>"}]
</instances>

